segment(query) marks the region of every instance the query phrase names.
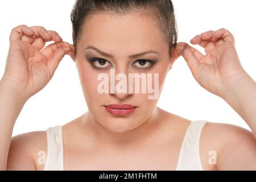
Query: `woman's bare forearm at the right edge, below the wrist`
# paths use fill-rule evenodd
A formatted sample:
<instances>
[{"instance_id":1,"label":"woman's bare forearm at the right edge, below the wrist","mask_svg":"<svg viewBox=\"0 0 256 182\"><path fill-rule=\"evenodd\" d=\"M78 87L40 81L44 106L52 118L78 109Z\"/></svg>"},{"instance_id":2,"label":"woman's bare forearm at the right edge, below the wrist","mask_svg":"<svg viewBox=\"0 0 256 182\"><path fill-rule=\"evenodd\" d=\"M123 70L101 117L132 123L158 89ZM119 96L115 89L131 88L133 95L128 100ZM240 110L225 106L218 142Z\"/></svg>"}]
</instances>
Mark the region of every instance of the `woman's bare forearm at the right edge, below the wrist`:
<instances>
[{"instance_id":1,"label":"woman's bare forearm at the right edge, below the wrist","mask_svg":"<svg viewBox=\"0 0 256 182\"><path fill-rule=\"evenodd\" d=\"M256 82L245 72L234 83L223 99L242 117L249 125L256 138Z\"/></svg>"}]
</instances>

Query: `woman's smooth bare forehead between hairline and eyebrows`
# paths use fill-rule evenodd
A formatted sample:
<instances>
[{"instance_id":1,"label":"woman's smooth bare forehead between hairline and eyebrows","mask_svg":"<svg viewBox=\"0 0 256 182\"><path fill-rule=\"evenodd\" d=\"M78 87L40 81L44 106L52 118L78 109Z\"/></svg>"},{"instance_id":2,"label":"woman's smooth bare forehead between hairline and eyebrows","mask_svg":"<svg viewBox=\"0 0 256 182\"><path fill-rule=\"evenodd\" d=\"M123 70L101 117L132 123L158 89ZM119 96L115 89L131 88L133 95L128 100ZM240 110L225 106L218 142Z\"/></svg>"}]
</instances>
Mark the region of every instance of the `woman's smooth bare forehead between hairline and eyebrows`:
<instances>
[{"instance_id":1,"label":"woman's smooth bare forehead between hairline and eyebrows","mask_svg":"<svg viewBox=\"0 0 256 182\"><path fill-rule=\"evenodd\" d=\"M112 50L159 49L168 46L157 20L151 15L98 13L85 20L80 42ZM107 48L107 49L106 49Z\"/></svg>"}]
</instances>

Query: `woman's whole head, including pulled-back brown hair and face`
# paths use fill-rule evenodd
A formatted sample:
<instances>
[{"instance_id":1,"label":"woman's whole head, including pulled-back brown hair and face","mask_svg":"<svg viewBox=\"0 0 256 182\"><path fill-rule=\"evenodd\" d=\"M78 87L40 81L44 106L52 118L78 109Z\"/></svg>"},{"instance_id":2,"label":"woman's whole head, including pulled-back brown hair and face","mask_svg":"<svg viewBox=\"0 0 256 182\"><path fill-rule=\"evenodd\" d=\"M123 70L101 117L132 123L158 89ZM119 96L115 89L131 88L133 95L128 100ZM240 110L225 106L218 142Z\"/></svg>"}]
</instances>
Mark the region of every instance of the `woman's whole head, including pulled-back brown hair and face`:
<instances>
[{"instance_id":1,"label":"woman's whole head, including pulled-back brown hair and face","mask_svg":"<svg viewBox=\"0 0 256 182\"><path fill-rule=\"evenodd\" d=\"M124 133L142 125L154 114L155 100L142 93L98 92L98 76L113 77L123 73L152 76L152 88L162 91L164 79L178 56L174 53L177 31L171 0L77 0L71 14L73 44L79 77L89 113L114 133ZM151 53L138 53L151 50ZM137 54L137 57L131 56ZM97 59L96 59L97 58ZM158 75L158 84L154 80ZM146 77L148 78L148 77ZM115 78L114 78L115 79ZM143 78L142 78L143 79ZM129 80L127 80L129 88ZM146 82L148 83L148 79ZM114 85L119 81L115 80ZM123 83L123 82L122 82ZM134 85L135 88L138 85ZM148 84L147 84L148 85ZM147 86L148 89L148 86ZM114 115L105 110L110 104L131 104L137 109L128 115Z\"/></svg>"}]
</instances>

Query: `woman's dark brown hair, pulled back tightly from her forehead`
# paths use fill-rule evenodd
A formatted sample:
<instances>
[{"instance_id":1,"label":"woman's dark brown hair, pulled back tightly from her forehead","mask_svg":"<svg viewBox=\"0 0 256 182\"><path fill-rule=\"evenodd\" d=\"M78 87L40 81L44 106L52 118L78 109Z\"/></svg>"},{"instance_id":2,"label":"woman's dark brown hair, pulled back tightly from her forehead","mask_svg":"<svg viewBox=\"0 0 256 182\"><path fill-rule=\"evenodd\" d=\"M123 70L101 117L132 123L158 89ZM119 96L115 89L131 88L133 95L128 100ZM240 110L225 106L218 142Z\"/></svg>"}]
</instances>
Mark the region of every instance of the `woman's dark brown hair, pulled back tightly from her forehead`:
<instances>
[{"instance_id":1,"label":"woman's dark brown hair, pulled back tightly from her forehead","mask_svg":"<svg viewBox=\"0 0 256 182\"><path fill-rule=\"evenodd\" d=\"M155 15L154 17L159 20L160 27L168 39L169 50L171 51L172 47L176 46L177 27L171 0L76 0L71 13L75 55L84 20L102 11L119 15L139 11Z\"/></svg>"}]
</instances>

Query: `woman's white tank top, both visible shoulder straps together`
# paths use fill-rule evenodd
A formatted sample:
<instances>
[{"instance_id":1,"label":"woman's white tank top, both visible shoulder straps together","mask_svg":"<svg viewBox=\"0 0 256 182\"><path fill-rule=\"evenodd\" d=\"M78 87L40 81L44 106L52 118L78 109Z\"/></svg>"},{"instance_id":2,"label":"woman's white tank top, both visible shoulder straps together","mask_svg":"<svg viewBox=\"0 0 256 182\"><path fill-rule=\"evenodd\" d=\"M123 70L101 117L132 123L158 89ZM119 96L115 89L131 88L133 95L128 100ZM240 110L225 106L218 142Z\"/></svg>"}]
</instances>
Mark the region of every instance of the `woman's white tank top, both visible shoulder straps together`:
<instances>
[{"instance_id":1,"label":"woman's white tank top, both visible shoulder straps together","mask_svg":"<svg viewBox=\"0 0 256 182\"><path fill-rule=\"evenodd\" d=\"M203 171L200 160L199 142L203 126L208 121L192 121L188 126L181 144L176 171ZM49 127L47 135L47 157L44 171L63 171L62 126Z\"/></svg>"}]
</instances>

